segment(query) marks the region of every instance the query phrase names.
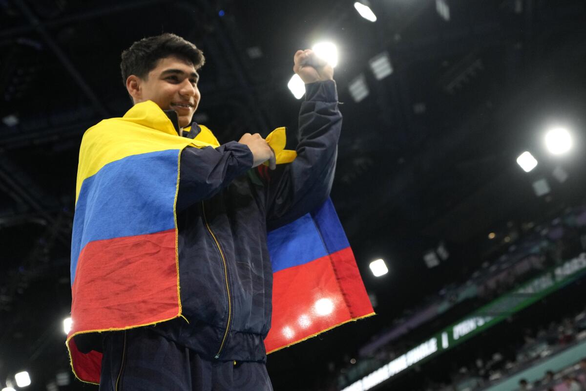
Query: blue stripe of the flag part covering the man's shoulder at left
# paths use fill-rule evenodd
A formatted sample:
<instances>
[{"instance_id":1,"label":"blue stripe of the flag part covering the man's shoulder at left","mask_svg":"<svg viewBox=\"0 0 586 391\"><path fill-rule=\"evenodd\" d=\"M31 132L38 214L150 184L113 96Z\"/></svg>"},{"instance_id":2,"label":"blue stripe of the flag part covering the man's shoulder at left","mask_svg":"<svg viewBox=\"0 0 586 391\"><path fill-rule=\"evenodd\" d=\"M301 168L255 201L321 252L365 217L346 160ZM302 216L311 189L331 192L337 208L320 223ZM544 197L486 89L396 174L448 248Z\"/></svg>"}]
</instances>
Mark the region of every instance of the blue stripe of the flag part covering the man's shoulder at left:
<instances>
[{"instance_id":1,"label":"blue stripe of the flag part covering the man's shoulder at left","mask_svg":"<svg viewBox=\"0 0 586 391\"><path fill-rule=\"evenodd\" d=\"M178 157L179 149L132 155L103 166L83 181L73 220L71 284L87 243L175 227Z\"/></svg>"}]
</instances>

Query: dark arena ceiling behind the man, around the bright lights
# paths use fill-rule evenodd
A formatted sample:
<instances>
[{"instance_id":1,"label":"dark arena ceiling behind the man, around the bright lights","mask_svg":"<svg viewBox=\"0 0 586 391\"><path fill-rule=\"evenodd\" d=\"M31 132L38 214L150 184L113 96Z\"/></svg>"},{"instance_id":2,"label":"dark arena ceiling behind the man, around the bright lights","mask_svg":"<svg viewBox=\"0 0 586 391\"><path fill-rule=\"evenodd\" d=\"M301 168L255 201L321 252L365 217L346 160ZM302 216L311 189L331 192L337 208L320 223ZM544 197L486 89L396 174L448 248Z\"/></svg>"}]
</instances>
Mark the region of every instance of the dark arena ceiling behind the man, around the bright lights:
<instances>
[{"instance_id":1,"label":"dark arena ceiling behind the man, around the bright lights","mask_svg":"<svg viewBox=\"0 0 586 391\"><path fill-rule=\"evenodd\" d=\"M339 0L0 1L0 382L28 368L31 389L44 390L67 370L78 148L84 130L130 107L120 53L144 36L173 32L203 49L196 119L221 142L294 130L295 50L338 45L344 125L332 199L379 315L275 353L277 390L303 389L403 311L464 281L507 230L582 200L583 1L447 1L449 21L432 0L371 3L375 23ZM393 73L377 80L369 60L383 52ZM360 75L369 95L356 103L349 85ZM576 147L556 160L541 135L560 123ZM540 161L530 174L515 163L524 150ZM547 196L533 192L540 178ZM489 242L490 231L500 236ZM440 243L448 260L427 268L423 254ZM380 257L390 273L376 279L368 264Z\"/></svg>"}]
</instances>

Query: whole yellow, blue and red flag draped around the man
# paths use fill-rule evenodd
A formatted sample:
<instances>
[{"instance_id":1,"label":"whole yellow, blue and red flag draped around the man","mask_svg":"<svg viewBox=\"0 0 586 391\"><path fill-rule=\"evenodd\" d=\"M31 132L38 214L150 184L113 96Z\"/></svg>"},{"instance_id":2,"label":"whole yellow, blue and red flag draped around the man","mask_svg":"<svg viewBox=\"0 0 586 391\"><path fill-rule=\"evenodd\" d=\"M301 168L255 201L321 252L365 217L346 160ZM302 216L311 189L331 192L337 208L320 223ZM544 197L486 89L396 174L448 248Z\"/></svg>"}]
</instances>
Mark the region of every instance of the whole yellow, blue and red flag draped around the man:
<instances>
[{"instance_id":1,"label":"whole yellow, blue and red flag draped around the man","mask_svg":"<svg viewBox=\"0 0 586 391\"><path fill-rule=\"evenodd\" d=\"M67 348L80 380L98 383L102 354L74 335L166 321L182 314L175 202L183 148L218 147L212 132L179 137L155 103L86 131L71 239L71 331ZM291 162L284 128L267 138L277 163ZM271 140L272 139L272 140ZM373 313L331 202L268 236L274 270L267 351Z\"/></svg>"}]
</instances>

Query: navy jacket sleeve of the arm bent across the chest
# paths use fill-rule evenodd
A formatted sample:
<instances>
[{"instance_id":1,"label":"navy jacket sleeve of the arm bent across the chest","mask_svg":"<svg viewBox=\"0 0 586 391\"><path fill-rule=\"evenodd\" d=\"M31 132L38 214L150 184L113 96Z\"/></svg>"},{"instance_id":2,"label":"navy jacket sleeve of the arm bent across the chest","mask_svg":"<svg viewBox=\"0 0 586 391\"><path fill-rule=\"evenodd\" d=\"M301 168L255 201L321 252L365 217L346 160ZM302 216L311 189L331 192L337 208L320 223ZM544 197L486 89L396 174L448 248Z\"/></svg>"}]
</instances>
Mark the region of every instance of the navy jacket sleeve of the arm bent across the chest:
<instances>
[{"instance_id":1,"label":"navy jacket sleeve of the arm bent across the chest","mask_svg":"<svg viewBox=\"0 0 586 391\"><path fill-rule=\"evenodd\" d=\"M209 199L253 166L247 145L236 141L218 148L187 147L181 152L176 210Z\"/></svg>"}]
</instances>

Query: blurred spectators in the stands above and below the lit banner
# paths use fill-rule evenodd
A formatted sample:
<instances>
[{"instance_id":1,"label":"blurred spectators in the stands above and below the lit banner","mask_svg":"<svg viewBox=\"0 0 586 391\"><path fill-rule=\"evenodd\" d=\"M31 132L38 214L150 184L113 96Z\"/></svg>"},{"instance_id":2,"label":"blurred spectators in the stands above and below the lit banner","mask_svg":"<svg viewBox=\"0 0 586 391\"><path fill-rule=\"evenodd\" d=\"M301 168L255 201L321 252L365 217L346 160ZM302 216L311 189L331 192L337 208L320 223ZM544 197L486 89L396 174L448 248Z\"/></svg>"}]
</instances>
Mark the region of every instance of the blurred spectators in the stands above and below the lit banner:
<instances>
[{"instance_id":1,"label":"blurred spectators in the stands above and below the lit banner","mask_svg":"<svg viewBox=\"0 0 586 391\"><path fill-rule=\"evenodd\" d=\"M426 325L427 329L434 323L441 324L435 319L445 321L451 319L450 316L456 317L456 314L468 314L586 251L586 207L568 208L558 216L542 224L507 224L506 229L503 228L504 233L500 234L506 235L506 240L495 243L495 248L498 248L489 251L492 261L483 261L476 270L469 270L467 276L461 276L459 283L452 281L435 298L430 298L417 310L400 317L396 324L360 350L358 360L345 359L342 366L332 363L332 375L338 375L338 381L333 382L337 383L337 387L332 387L332 390L342 389L412 348L418 338L425 338L423 332L417 335L421 325ZM520 337L521 344L503 348L507 350L506 354L497 349L489 356L479 357L471 365L462 366L450 376L451 382L448 384L427 382L427 386L422 385L421 389L483 389L532 366L539 359L563 350L568 344L586 338L584 308L573 316L547 322L527 328ZM527 382L527 385L519 386L524 387L520 388L522 390L548 391L553 387L555 391L586 391L580 374L574 376L566 372L550 373L548 376L552 377L547 383L544 383L544 375L543 381L537 384ZM570 378L566 379L567 376ZM578 386L581 388L578 389ZM323 385L320 389L323 389Z\"/></svg>"}]
</instances>

